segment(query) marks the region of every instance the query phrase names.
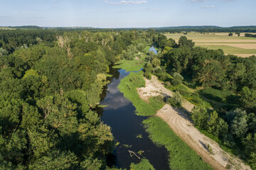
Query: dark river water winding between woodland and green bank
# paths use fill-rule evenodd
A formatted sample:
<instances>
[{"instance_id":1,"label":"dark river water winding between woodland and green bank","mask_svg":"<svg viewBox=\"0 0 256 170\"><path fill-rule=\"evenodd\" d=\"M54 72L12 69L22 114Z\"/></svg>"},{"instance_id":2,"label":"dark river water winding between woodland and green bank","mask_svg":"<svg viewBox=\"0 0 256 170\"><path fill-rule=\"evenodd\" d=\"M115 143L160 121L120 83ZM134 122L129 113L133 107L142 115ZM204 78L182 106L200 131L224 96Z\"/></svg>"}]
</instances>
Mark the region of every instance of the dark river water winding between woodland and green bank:
<instances>
[{"instance_id":1,"label":"dark river water winding between woodland and green bank","mask_svg":"<svg viewBox=\"0 0 256 170\"><path fill-rule=\"evenodd\" d=\"M124 98L117 87L121 79L127 77L129 72L124 69L110 69L110 74L113 75L110 79L111 83L103 91L100 102L101 105L107 105L107 107L97 109L102 121L110 125L114 139L119 142L113 154L108 158L108 165L129 169L132 162L138 163L137 157L130 156L130 150L136 154L142 151L142 155L137 155L149 159L155 169L169 169L166 148L156 146L149 139L149 134L142 125L142 121L148 117L136 115L136 108L127 98Z\"/></svg>"}]
</instances>

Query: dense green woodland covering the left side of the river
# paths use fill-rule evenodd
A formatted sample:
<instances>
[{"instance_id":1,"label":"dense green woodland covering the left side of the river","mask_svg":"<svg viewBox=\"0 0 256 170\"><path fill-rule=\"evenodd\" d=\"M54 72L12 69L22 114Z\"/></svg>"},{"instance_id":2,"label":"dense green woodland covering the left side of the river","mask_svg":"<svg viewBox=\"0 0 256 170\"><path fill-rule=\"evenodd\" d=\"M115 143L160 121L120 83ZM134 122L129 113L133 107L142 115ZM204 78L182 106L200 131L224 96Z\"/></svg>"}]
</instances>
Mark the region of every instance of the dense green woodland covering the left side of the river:
<instances>
[{"instance_id":1,"label":"dense green woodland covering the left side of the river","mask_svg":"<svg viewBox=\"0 0 256 170\"><path fill-rule=\"evenodd\" d=\"M114 138L94 108L111 65L151 33L1 30L0 40L0 169L105 169Z\"/></svg>"}]
</instances>

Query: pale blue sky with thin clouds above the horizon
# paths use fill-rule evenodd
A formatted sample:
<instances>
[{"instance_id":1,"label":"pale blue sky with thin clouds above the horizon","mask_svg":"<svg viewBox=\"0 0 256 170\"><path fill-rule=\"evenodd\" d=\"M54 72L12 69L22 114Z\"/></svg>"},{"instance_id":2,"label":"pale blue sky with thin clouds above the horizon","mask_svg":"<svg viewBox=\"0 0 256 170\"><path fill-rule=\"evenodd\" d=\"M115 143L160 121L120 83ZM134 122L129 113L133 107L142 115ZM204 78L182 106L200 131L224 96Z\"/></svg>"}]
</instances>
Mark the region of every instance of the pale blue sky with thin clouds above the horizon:
<instances>
[{"instance_id":1,"label":"pale blue sky with thin clouds above the horizon","mask_svg":"<svg viewBox=\"0 0 256 170\"><path fill-rule=\"evenodd\" d=\"M0 26L256 26L256 0L0 0Z\"/></svg>"}]
</instances>

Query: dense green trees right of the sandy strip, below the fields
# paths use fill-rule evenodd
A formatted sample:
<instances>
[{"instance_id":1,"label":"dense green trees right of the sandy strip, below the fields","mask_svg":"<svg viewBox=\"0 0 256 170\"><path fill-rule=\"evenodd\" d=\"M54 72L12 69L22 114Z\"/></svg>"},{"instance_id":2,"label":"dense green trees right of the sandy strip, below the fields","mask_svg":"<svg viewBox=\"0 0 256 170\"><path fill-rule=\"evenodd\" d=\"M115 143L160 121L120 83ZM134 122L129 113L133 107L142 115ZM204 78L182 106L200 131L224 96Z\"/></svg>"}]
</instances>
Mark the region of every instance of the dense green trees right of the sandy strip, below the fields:
<instances>
[{"instance_id":1,"label":"dense green trees right of the sandy strip, below the fields","mask_svg":"<svg viewBox=\"0 0 256 170\"><path fill-rule=\"evenodd\" d=\"M197 106L191 118L196 127L218 137L216 140L223 147L233 149L233 153L256 169L256 57L242 58L224 55L223 50L194 47L195 43L185 36L176 43L159 34L154 42L160 50L158 55L149 54L149 62L144 67L145 77L150 79L151 74L155 74L166 82L166 86L176 89L177 98L191 93L181 88L181 82L191 89L236 94L229 96L232 105L214 110L207 110L203 100L196 98ZM207 97L218 101L214 93ZM171 104L178 106L182 99L178 100Z\"/></svg>"}]
</instances>

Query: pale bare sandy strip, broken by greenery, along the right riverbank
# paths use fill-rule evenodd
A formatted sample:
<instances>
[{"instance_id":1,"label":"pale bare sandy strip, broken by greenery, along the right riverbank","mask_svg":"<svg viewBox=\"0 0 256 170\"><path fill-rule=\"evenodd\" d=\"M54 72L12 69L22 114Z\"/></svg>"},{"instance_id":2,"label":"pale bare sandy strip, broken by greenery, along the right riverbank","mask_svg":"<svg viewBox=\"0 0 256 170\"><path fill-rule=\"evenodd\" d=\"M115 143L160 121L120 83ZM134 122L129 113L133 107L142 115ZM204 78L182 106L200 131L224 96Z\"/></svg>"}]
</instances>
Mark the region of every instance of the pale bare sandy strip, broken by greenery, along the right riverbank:
<instances>
[{"instance_id":1,"label":"pale bare sandy strip, broken by greenery, along the right riverbank","mask_svg":"<svg viewBox=\"0 0 256 170\"><path fill-rule=\"evenodd\" d=\"M139 96L145 101L149 100L151 96L174 96L174 92L164 88L164 85L156 77L152 76L151 80L145 79L146 87L138 88ZM230 164L230 169L250 169L250 166L246 166L237 157L233 157L231 154L223 151L218 144L210 140L210 138L201 134L193 123L186 115L186 111L191 111L193 104L188 101L183 102L183 108L174 108L166 104L163 108L157 111L156 116L162 118L181 139L187 143L193 150L200 155L205 162L213 166L213 169L225 169ZM185 110L186 109L186 110ZM208 147L213 151L210 154Z\"/></svg>"}]
</instances>

